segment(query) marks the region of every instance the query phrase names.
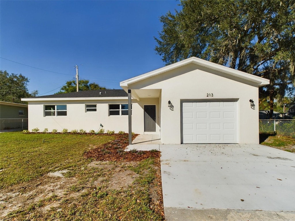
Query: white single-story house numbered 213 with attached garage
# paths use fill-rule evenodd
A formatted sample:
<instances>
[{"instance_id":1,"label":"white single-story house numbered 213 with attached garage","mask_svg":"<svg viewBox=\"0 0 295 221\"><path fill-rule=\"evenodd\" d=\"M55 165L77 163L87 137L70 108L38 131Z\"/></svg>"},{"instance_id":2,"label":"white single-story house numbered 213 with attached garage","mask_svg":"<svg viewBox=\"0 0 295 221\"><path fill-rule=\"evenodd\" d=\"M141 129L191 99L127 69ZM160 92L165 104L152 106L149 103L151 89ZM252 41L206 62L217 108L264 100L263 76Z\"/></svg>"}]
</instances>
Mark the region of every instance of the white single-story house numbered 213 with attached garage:
<instances>
[{"instance_id":1,"label":"white single-story house numbered 213 with attached garage","mask_svg":"<svg viewBox=\"0 0 295 221\"><path fill-rule=\"evenodd\" d=\"M269 80L196 57L122 81L123 90L93 90L22 100L29 129L67 128L156 133L163 144L258 144L258 87ZM250 100L253 103L249 102ZM170 104L168 104L170 102ZM252 105L251 105L252 104Z\"/></svg>"}]
</instances>

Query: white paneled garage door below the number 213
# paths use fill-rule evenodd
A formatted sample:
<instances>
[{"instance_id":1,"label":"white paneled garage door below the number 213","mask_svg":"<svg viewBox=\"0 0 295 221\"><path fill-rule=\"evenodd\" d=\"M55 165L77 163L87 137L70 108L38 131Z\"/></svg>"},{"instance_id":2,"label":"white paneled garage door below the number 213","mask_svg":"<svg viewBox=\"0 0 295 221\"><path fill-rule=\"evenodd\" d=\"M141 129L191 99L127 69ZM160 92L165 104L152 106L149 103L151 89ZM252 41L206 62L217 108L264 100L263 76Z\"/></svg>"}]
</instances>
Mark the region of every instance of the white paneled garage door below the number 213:
<instances>
[{"instance_id":1,"label":"white paneled garage door below the number 213","mask_svg":"<svg viewBox=\"0 0 295 221\"><path fill-rule=\"evenodd\" d=\"M183 102L184 144L237 143L237 102Z\"/></svg>"}]
</instances>

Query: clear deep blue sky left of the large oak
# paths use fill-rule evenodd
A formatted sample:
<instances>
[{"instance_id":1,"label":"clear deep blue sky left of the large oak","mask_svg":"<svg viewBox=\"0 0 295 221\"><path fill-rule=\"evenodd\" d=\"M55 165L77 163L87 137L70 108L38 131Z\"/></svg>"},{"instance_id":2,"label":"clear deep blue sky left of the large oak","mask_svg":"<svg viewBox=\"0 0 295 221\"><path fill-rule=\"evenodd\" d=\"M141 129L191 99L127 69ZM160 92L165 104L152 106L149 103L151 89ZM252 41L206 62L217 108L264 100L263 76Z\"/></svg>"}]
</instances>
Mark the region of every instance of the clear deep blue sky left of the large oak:
<instances>
[{"instance_id":1,"label":"clear deep blue sky left of the large oak","mask_svg":"<svg viewBox=\"0 0 295 221\"><path fill-rule=\"evenodd\" d=\"M29 92L56 93L68 80L111 89L165 64L154 48L159 17L179 1L0 1L0 69L30 79ZM47 72L15 62L37 67ZM55 90L54 90L55 89Z\"/></svg>"}]
</instances>

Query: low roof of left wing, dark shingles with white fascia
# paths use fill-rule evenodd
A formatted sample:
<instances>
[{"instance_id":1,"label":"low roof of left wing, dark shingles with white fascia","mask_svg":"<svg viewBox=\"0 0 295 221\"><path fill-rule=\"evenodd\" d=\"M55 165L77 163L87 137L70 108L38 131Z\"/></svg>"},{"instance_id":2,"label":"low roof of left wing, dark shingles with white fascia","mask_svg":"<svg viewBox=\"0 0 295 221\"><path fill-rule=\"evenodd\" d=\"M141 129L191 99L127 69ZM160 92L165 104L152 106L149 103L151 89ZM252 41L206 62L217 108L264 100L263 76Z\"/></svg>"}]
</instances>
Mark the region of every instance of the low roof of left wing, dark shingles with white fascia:
<instances>
[{"instance_id":1,"label":"low roof of left wing, dark shingles with white fascia","mask_svg":"<svg viewBox=\"0 0 295 221\"><path fill-rule=\"evenodd\" d=\"M110 99L110 98L126 98L128 97L127 93L122 89L112 89L112 90L84 90L78 92L71 93L62 93L62 94L53 94L53 95L45 95L39 97L30 97L30 98L22 98L25 101L32 100L79 100L84 98L85 100L89 100L87 98L92 99ZM84 100L83 99L83 100Z\"/></svg>"}]
</instances>

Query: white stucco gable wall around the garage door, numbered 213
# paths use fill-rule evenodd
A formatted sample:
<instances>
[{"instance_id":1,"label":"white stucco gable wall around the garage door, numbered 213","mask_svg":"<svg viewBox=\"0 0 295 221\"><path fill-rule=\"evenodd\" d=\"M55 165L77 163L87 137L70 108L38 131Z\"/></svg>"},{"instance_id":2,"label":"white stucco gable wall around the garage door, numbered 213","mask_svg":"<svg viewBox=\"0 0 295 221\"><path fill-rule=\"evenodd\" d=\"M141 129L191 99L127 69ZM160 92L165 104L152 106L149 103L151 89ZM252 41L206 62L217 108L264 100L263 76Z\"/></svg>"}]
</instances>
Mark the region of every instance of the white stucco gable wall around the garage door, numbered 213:
<instances>
[{"instance_id":1,"label":"white stucco gable wall around the garage door, numbered 213","mask_svg":"<svg viewBox=\"0 0 295 221\"><path fill-rule=\"evenodd\" d=\"M245 84L245 80L239 78L228 79L220 75L222 73L206 68L196 69L196 65L191 64L133 83L128 88L162 89L160 131L163 144L181 143L181 100L229 98L238 100L238 143L258 144L258 86ZM207 93L213 93L213 97L207 97ZM255 110L250 107L250 99L257 105ZM168 108L168 100L174 110Z\"/></svg>"}]
</instances>

